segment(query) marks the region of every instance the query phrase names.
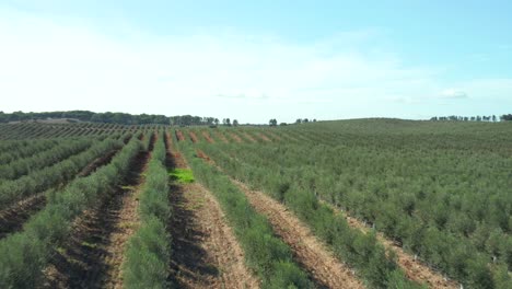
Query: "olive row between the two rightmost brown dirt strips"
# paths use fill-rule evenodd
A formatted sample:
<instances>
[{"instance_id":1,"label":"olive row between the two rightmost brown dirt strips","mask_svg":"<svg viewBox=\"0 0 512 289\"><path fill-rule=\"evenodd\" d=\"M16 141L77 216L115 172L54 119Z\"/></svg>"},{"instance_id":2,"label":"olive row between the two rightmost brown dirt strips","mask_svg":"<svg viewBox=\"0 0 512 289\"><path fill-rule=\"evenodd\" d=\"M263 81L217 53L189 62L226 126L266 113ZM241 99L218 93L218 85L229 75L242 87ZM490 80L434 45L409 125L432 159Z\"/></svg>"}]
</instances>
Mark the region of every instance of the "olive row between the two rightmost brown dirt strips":
<instances>
[{"instance_id":1,"label":"olive row between the two rightmost brown dirt strips","mask_svg":"<svg viewBox=\"0 0 512 289\"><path fill-rule=\"evenodd\" d=\"M282 177L282 169L254 166L241 162L243 158L238 155L233 159L211 146L202 149L235 178L265 188L271 197L291 208L342 262L358 270L370 288L421 288L405 277L392 252L385 251L374 233L351 229L342 216L319 203L314 192Z\"/></svg>"}]
</instances>

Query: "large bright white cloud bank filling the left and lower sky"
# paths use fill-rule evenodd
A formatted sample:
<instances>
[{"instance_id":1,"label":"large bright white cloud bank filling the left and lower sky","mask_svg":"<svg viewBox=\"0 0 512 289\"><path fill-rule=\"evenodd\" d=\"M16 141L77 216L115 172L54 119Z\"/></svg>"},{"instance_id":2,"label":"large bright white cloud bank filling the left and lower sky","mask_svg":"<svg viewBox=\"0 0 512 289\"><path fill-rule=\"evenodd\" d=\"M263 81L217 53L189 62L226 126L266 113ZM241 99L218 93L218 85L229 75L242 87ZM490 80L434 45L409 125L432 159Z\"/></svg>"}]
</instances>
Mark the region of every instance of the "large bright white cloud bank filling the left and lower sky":
<instances>
[{"instance_id":1,"label":"large bright white cloud bank filling the left and lower sky","mask_svg":"<svg viewBox=\"0 0 512 289\"><path fill-rule=\"evenodd\" d=\"M433 95L445 86L437 69L366 49L374 31L293 44L233 31L153 35L126 25L116 35L83 20L0 11L1 109L196 114L242 123L408 117L423 109L412 112L415 104L439 101Z\"/></svg>"}]
</instances>

